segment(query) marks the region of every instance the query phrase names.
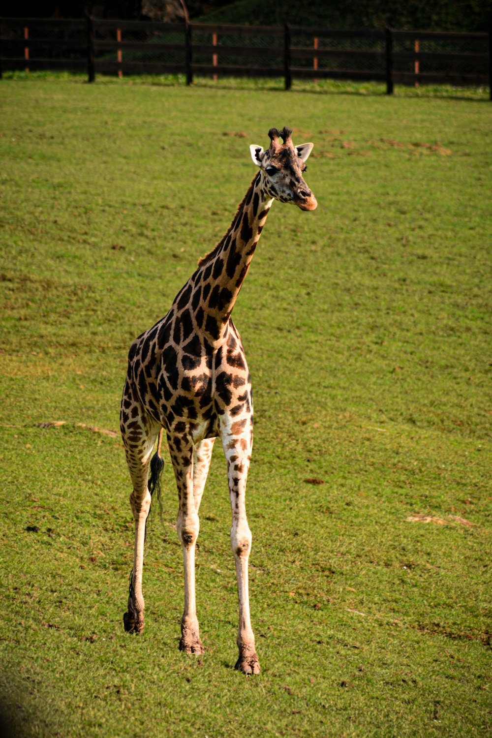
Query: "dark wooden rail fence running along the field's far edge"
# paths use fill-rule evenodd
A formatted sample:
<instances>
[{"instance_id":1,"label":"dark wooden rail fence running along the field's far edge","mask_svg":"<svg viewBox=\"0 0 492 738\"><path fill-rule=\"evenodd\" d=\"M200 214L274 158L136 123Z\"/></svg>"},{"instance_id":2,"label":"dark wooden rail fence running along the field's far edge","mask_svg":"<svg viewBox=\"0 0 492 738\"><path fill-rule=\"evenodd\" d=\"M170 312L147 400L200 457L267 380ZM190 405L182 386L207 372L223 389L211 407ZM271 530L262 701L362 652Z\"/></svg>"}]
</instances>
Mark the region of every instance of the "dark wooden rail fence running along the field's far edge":
<instances>
[{"instance_id":1,"label":"dark wooden rail fence running along the field's far edge","mask_svg":"<svg viewBox=\"0 0 492 738\"><path fill-rule=\"evenodd\" d=\"M490 86L491 33L0 18L2 71ZM491 92L492 99L492 92Z\"/></svg>"}]
</instances>

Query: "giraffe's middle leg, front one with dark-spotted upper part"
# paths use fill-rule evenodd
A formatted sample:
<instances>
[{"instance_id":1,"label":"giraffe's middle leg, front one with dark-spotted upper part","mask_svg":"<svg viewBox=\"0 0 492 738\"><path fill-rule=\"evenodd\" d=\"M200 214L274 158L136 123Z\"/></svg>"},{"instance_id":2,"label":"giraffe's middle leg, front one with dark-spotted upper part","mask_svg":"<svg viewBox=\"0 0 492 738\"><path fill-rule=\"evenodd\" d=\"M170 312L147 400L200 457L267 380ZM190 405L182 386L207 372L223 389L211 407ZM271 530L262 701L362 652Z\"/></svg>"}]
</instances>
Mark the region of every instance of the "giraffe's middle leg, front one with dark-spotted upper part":
<instances>
[{"instance_id":1,"label":"giraffe's middle leg, front one with dark-spotted upper part","mask_svg":"<svg viewBox=\"0 0 492 738\"><path fill-rule=\"evenodd\" d=\"M193 441L190 435L184 432L179 435L168 435L168 442L178 486L179 511L176 531L181 542L184 564L184 612L181 618L179 650L201 654L204 652L204 645L200 639L195 599L195 549L200 523L198 506L195 506L193 496ZM203 487L201 491L203 492Z\"/></svg>"}]
</instances>

